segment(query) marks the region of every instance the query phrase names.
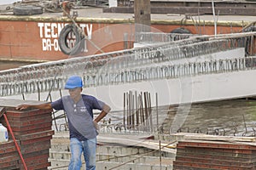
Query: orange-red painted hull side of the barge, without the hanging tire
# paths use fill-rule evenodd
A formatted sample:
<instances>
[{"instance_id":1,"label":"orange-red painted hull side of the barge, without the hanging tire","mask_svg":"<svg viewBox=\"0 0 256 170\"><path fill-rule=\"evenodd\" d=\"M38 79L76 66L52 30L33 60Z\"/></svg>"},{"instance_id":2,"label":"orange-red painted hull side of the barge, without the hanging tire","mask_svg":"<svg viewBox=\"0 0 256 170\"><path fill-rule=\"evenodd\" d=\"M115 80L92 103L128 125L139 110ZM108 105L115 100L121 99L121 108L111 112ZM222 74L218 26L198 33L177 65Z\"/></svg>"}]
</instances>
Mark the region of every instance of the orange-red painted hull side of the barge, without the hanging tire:
<instances>
[{"instance_id":1,"label":"orange-red painted hull side of the barge, without the hanging tire","mask_svg":"<svg viewBox=\"0 0 256 170\"><path fill-rule=\"evenodd\" d=\"M44 15L3 15L0 16L0 21L1 59L59 60L70 57L61 52L58 36L65 26L64 24L71 23L71 20ZM89 41L85 42L84 53L79 55L133 48L135 26L132 19L87 19L81 17L76 21L89 37ZM217 33L238 32L247 23L218 21ZM151 20L151 31L171 32L181 26L193 34L214 34L214 23L211 20L197 23L197 26L191 20L186 21L183 25L181 25L181 20ZM124 38L125 34L126 38Z\"/></svg>"}]
</instances>

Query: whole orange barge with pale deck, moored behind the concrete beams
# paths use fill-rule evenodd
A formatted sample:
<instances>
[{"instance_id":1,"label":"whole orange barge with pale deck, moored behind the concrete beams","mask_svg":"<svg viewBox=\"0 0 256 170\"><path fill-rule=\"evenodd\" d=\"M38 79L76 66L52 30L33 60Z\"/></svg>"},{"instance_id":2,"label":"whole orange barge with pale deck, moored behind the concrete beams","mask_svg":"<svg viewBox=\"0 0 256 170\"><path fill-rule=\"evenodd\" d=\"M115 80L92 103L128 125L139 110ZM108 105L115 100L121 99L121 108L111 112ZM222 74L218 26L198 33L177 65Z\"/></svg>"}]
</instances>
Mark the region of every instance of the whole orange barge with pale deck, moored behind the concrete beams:
<instances>
[{"instance_id":1,"label":"whole orange barge with pale deck, moored behind the concrete beams","mask_svg":"<svg viewBox=\"0 0 256 170\"><path fill-rule=\"evenodd\" d=\"M22 2L20 6L24 7L35 5L32 2L37 1ZM121 4L120 2L118 1L118 5ZM252 5L253 2L250 4ZM129 5L131 6L131 3ZM120 13L117 9L106 6L74 5L68 11L71 17L67 17L62 10L49 12L45 6L44 10L42 9L42 14L21 15L15 14L12 10L17 6L18 3L14 3L0 7L2 12L0 15L0 59L24 59L41 62L73 57L72 54L65 54L61 51L59 42L61 30L73 21L86 36L83 51L74 56L134 48L134 43L137 42L135 30L137 22L134 13ZM125 4L122 5L122 8L124 6ZM117 12L113 13L113 11ZM155 12L155 9L152 11L154 13L152 12L149 17L149 31L152 32L170 33L185 30L197 35L226 34L241 32L243 28L255 22L255 16L247 14L218 15L218 11L216 11L214 19L212 14L184 14L183 11L177 14L177 11L174 10L173 14L163 14L163 10L160 9L158 11L161 13ZM63 43L73 45L75 41L74 37L70 37L67 42Z\"/></svg>"}]
</instances>

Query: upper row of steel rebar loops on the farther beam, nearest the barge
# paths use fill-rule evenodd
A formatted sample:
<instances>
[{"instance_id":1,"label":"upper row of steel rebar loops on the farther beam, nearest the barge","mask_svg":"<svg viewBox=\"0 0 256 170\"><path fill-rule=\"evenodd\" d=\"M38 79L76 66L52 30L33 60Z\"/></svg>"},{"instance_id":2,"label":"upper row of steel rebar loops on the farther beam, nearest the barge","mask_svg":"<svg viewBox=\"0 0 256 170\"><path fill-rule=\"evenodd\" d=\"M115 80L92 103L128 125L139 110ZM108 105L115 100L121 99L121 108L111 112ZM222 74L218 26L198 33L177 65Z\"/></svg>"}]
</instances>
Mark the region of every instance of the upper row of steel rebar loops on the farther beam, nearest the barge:
<instances>
[{"instance_id":1,"label":"upper row of steel rebar loops on the farther beam, nearest the barge","mask_svg":"<svg viewBox=\"0 0 256 170\"><path fill-rule=\"evenodd\" d=\"M49 62L46 64L21 67L21 70L19 70L19 72L26 70L35 70L32 67L37 67L38 70L47 69L49 67L55 67L59 65L73 65L77 63L85 63L88 66L92 65L95 67L101 66L101 64L104 64L104 62L108 62L108 60L111 60L113 58L122 56L129 57L129 55L131 55L131 58L139 60L154 59L155 62L161 62L163 58L164 60L182 59L200 54L209 54L218 50L245 47L247 39L250 38L250 35L249 37L240 37L240 39L225 38L224 40L218 39L216 41L207 41L208 38L209 37L195 37L192 39L185 39L176 42L152 44L143 48L133 48L107 54L96 54L79 58L63 59L61 61L53 63ZM91 63L87 63L87 61L90 61ZM131 64L130 62L126 63ZM133 64L137 64L137 62L134 62ZM0 71L0 75L2 76L3 74L5 73L3 71Z\"/></svg>"}]
</instances>

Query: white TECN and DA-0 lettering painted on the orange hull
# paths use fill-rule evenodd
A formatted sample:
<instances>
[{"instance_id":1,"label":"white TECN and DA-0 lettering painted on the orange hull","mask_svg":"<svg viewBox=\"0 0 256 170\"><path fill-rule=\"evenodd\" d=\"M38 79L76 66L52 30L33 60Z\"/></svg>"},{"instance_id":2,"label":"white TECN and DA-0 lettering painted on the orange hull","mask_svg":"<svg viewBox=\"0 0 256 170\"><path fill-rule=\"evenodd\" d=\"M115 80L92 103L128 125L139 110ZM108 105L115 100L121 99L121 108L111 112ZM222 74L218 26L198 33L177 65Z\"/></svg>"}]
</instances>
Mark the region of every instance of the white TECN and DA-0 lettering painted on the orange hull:
<instances>
[{"instance_id":1,"label":"white TECN and DA-0 lettering painted on the orange hull","mask_svg":"<svg viewBox=\"0 0 256 170\"><path fill-rule=\"evenodd\" d=\"M43 51L61 51L59 46L58 37L61 30L67 26L63 23L38 23L39 36L42 39L42 50ZM79 27L84 31L84 34L88 39L91 39L92 35L92 24L80 24ZM70 39L69 39L70 38ZM73 47L75 43L75 36L69 35L67 39L68 47ZM84 42L84 52L88 52L86 41Z\"/></svg>"}]
</instances>

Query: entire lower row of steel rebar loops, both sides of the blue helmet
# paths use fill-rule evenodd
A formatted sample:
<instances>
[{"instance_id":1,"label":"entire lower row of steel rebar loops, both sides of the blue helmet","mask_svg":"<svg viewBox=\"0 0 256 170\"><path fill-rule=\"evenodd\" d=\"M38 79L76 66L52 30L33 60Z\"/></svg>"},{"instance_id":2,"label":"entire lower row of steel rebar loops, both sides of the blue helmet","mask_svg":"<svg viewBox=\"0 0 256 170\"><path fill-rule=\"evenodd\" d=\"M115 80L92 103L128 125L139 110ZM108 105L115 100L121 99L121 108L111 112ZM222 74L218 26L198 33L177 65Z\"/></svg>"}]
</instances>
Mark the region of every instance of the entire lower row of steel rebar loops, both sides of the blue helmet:
<instances>
[{"instance_id":1,"label":"entire lower row of steel rebar loops, both sides of the blue helmet","mask_svg":"<svg viewBox=\"0 0 256 170\"><path fill-rule=\"evenodd\" d=\"M59 68L60 69L60 68ZM58 69L58 70L59 70ZM205 62L185 63L178 65L151 65L150 67L123 68L122 70L85 71L82 75L84 87L123 84L128 82L152 81L179 77L194 77L206 74L218 74L231 71L256 69L256 58L219 59ZM44 73L40 74L40 76ZM52 77L33 77L29 80L0 82L0 95L33 94L62 89L66 77L58 72Z\"/></svg>"}]
</instances>

